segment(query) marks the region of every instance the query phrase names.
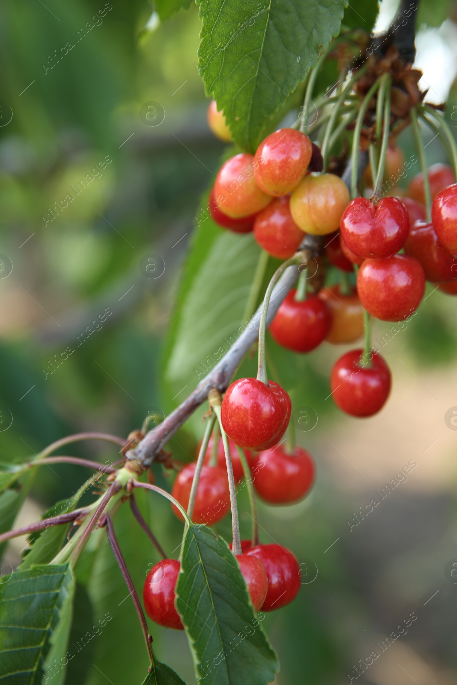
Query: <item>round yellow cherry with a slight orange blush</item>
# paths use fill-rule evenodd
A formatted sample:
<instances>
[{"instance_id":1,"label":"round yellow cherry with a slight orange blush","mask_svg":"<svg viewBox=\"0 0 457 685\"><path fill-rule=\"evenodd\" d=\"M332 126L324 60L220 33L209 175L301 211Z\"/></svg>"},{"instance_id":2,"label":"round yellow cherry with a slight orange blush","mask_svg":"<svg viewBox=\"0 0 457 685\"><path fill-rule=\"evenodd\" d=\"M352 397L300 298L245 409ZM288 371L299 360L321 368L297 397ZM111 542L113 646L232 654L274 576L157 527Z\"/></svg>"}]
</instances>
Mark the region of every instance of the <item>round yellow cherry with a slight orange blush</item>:
<instances>
[{"instance_id":1,"label":"round yellow cherry with a slight orange blush","mask_svg":"<svg viewBox=\"0 0 457 685\"><path fill-rule=\"evenodd\" d=\"M338 229L348 202L349 190L339 176L310 173L291 195L291 214L302 231L323 236Z\"/></svg>"}]
</instances>

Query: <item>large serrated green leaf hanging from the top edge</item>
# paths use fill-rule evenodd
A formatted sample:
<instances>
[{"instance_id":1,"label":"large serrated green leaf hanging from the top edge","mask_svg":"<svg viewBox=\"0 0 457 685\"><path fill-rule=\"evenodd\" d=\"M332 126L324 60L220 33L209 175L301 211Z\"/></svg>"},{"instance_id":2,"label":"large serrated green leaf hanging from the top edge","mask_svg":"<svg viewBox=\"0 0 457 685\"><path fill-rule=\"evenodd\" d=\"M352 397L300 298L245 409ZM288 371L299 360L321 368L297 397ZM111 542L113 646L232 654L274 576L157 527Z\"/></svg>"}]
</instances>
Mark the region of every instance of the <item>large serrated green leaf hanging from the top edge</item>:
<instances>
[{"instance_id":1,"label":"large serrated green leaf hanging from the top edge","mask_svg":"<svg viewBox=\"0 0 457 685\"><path fill-rule=\"evenodd\" d=\"M199 71L238 145L269 121L338 34L347 0L199 0Z\"/></svg>"}]
</instances>

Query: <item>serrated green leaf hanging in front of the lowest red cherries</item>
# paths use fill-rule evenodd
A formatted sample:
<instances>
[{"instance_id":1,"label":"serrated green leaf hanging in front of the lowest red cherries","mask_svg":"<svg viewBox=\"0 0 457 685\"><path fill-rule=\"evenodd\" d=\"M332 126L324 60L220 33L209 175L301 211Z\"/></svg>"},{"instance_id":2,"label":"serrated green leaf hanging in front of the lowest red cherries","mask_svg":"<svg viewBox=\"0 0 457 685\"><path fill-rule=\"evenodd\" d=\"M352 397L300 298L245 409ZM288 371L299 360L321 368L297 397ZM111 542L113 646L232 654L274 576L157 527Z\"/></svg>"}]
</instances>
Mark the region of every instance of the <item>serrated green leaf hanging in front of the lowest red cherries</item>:
<instances>
[{"instance_id":1,"label":"serrated green leaf hanging in front of the lowest red cherries","mask_svg":"<svg viewBox=\"0 0 457 685\"><path fill-rule=\"evenodd\" d=\"M198 677L208 685L275 679L277 656L254 615L238 563L206 526L189 527L176 597Z\"/></svg>"}]
</instances>

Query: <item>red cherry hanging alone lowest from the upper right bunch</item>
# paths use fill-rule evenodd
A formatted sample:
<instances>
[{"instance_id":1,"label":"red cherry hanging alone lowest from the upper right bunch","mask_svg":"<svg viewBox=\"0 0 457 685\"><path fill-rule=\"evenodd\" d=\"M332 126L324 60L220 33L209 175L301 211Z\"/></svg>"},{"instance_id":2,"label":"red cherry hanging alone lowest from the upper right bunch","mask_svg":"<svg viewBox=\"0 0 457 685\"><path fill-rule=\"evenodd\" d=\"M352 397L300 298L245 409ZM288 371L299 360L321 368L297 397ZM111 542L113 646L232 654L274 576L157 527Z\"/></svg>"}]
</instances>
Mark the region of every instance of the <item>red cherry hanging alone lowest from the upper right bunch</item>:
<instances>
[{"instance_id":1,"label":"red cherry hanging alone lowest from the upper right bunch","mask_svg":"<svg viewBox=\"0 0 457 685\"><path fill-rule=\"evenodd\" d=\"M352 349L338 359L330 375L332 397L347 414L373 416L391 391L391 371L380 354L369 367L360 366L361 356L361 349Z\"/></svg>"}]
</instances>

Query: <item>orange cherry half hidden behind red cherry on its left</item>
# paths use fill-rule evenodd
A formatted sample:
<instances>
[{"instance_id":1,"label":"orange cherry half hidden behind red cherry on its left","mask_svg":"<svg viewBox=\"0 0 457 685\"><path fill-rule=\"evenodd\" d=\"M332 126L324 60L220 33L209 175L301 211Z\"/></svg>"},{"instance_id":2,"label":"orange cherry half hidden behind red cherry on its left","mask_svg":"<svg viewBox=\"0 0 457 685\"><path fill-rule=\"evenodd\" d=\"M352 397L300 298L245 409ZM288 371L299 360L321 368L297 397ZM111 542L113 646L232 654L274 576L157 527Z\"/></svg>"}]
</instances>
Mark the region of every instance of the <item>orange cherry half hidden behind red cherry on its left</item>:
<instances>
[{"instance_id":1,"label":"orange cherry half hidden behind red cherry on its left","mask_svg":"<svg viewBox=\"0 0 457 685\"><path fill-rule=\"evenodd\" d=\"M325 286L319 290L322 299L332 311L332 325L325 340L332 345L354 343L362 336L363 307L356 288L351 288L349 295L343 295L340 286Z\"/></svg>"}]
</instances>

